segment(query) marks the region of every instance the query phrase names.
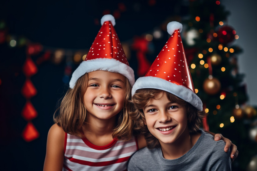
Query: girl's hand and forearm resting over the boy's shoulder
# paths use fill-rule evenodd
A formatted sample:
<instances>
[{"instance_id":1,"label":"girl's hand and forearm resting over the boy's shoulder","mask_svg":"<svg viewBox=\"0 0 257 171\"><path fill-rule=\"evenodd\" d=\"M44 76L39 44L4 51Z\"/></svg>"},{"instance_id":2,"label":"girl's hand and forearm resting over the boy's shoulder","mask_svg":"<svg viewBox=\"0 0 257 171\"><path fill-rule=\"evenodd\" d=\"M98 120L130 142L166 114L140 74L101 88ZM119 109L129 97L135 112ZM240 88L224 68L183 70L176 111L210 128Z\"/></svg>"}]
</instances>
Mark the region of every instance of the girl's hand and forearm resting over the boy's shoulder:
<instances>
[{"instance_id":1,"label":"girl's hand and forearm resting over the boy's shoulder","mask_svg":"<svg viewBox=\"0 0 257 171\"><path fill-rule=\"evenodd\" d=\"M210 131L205 131L205 132L212 134L214 136L215 141L219 141L219 140L225 141L226 145L224 147L224 151L228 152L228 150L230 148L231 149L230 158L231 158L232 162L236 159L239 152L238 152L235 144L233 144L228 138L223 137L222 134L214 134L213 132L210 132Z\"/></svg>"}]
</instances>

